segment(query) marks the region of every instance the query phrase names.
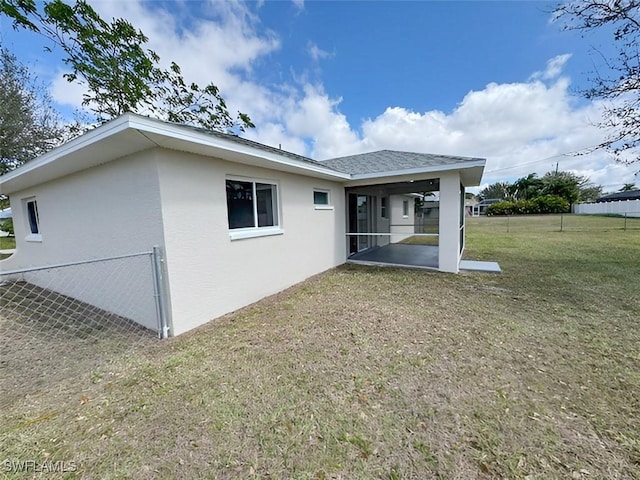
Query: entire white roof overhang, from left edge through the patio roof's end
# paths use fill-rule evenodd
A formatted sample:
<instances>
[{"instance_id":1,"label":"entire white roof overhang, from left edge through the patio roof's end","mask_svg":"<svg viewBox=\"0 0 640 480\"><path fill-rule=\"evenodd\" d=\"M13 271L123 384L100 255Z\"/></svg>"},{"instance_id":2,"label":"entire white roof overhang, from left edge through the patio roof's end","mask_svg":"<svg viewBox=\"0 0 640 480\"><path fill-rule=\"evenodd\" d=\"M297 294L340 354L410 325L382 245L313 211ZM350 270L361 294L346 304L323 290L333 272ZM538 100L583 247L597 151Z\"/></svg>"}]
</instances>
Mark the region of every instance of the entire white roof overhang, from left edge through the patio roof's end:
<instances>
[{"instance_id":1,"label":"entire white roof overhang, from left edge through the patio roof's end","mask_svg":"<svg viewBox=\"0 0 640 480\"><path fill-rule=\"evenodd\" d=\"M38 157L16 170L0 176L0 193L11 194L56 178L95 167L152 148L165 148L218 158L235 163L322 178L345 187L411 182L438 178L446 171L459 171L464 186L480 185L485 161L421 167L407 170L348 174L329 167L279 153L259 144L234 141L234 137L211 135L204 131L127 113Z\"/></svg>"}]
</instances>

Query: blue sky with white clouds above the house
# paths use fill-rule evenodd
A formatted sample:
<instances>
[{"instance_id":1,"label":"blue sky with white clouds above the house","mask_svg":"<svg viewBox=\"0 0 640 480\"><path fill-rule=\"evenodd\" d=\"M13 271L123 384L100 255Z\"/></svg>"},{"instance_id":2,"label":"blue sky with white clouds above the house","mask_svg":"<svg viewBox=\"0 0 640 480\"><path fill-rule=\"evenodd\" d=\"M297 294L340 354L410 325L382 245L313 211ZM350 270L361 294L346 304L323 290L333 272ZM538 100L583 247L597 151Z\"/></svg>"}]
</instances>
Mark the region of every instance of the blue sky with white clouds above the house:
<instances>
[{"instance_id":1,"label":"blue sky with white clouds above the house","mask_svg":"<svg viewBox=\"0 0 640 480\"><path fill-rule=\"evenodd\" d=\"M552 2L107 1L164 62L218 84L257 128L247 137L329 158L383 148L487 158L484 183L560 168L613 190L638 170L597 144L602 105L578 90L612 51L551 22ZM82 86L59 55L0 20L2 43L51 83L59 108Z\"/></svg>"}]
</instances>

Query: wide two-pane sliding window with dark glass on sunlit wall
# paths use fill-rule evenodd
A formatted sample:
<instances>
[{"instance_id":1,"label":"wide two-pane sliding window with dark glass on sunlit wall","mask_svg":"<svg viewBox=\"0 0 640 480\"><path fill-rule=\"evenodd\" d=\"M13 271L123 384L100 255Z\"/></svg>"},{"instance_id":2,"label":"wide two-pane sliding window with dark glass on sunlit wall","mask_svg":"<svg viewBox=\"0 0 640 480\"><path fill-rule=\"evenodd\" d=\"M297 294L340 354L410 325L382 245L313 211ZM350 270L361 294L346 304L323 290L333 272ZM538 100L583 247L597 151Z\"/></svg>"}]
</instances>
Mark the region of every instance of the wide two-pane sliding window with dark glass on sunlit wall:
<instances>
[{"instance_id":1,"label":"wide two-pane sliding window with dark glass on sunlit wall","mask_svg":"<svg viewBox=\"0 0 640 480\"><path fill-rule=\"evenodd\" d=\"M227 180L229 229L277 227L278 186L272 183Z\"/></svg>"}]
</instances>

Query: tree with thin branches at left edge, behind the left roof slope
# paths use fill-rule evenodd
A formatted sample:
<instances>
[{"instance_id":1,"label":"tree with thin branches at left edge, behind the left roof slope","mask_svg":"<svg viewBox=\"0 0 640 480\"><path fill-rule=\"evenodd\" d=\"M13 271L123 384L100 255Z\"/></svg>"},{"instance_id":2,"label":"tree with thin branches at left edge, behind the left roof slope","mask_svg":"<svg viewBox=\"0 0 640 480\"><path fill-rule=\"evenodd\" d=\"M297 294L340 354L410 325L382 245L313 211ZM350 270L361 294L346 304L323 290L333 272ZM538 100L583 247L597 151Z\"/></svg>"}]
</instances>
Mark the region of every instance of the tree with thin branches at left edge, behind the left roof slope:
<instances>
[{"instance_id":1,"label":"tree with thin branches at left edge, behind the left roof slope","mask_svg":"<svg viewBox=\"0 0 640 480\"><path fill-rule=\"evenodd\" d=\"M45 85L0 48L0 175L61 143L65 131Z\"/></svg>"}]
</instances>

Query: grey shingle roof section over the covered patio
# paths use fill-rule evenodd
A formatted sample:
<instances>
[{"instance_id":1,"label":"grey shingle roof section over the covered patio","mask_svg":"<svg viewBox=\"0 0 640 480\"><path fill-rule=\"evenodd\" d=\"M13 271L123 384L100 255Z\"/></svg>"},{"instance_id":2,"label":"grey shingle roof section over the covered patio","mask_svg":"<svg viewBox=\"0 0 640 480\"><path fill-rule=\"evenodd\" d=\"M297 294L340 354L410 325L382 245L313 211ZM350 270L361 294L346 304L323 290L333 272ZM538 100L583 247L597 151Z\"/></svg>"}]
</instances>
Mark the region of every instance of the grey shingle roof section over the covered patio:
<instances>
[{"instance_id":1,"label":"grey shingle roof section over the covered patio","mask_svg":"<svg viewBox=\"0 0 640 480\"><path fill-rule=\"evenodd\" d=\"M339 172L353 175L396 172L414 168L440 167L459 165L467 162L482 161L482 158L435 155L432 153L398 152L396 150L380 150L378 152L361 153L348 157L331 158L320 163Z\"/></svg>"}]
</instances>

